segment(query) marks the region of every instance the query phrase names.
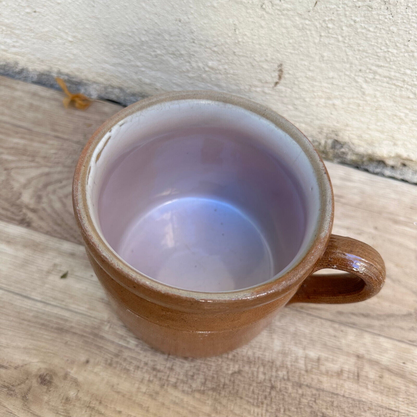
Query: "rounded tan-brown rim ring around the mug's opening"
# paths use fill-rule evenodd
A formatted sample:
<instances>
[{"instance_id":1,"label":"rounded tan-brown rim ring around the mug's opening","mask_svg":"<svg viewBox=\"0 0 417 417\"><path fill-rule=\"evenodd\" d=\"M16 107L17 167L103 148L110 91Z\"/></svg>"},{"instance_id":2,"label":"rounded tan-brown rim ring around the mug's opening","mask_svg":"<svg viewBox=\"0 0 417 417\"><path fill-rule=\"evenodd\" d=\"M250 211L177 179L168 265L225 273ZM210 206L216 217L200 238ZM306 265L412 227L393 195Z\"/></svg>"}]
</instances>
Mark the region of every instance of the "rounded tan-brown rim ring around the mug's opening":
<instances>
[{"instance_id":1,"label":"rounded tan-brown rim ring around the mug's opening","mask_svg":"<svg viewBox=\"0 0 417 417\"><path fill-rule=\"evenodd\" d=\"M86 191L90 161L95 148L113 126L128 116L156 104L176 100L217 101L256 113L287 133L308 157L319 187L321 213L315 236L311 240L306 253L289 271L281 275L278 273L269 281L246 289L223 292L191 291L164 284L142 274L118 256L100 236L91 218ZM322 158L308 138L292 123L266 106L237 95L210 90L173 91L153 95L123 108L107 119L90 137L78 160L73 179L73 207L85 247L101 268L119 284L136 295L157 304L185 310L201 309L201 307L213 310L221 308L225 303L230 307L231 304L237 306L242 304L243 301L246 309L273 301L291 291L294 287L298 287L302 280L311 273L314 265L324 253L330 239L334 216L334 198L329 174Z\"/></svg>"}]
</instances>

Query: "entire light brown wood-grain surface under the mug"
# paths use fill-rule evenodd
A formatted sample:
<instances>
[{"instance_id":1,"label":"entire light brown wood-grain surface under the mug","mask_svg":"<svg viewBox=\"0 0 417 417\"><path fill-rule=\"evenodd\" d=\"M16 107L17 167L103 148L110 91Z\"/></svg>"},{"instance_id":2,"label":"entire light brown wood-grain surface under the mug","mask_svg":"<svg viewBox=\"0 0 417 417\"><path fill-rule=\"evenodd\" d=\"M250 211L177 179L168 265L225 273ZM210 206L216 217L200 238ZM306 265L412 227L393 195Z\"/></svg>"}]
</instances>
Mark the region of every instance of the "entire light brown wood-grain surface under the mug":
<instances>
[{"instance_id":1,"label":"entire light brown wood-grain surface under the mug","mask_svg":"<svg viewBox=\"0 0 417 417\"><path fill-rule=\"evenodd\" d=\"M382 291L294 304L220 357L170 357L115 317L73 220L78 155L119 107L61 99L0 77L1 416L417 415L416 186L328 163L334 233L380 251Z\"/></svg>"}]
</instances>

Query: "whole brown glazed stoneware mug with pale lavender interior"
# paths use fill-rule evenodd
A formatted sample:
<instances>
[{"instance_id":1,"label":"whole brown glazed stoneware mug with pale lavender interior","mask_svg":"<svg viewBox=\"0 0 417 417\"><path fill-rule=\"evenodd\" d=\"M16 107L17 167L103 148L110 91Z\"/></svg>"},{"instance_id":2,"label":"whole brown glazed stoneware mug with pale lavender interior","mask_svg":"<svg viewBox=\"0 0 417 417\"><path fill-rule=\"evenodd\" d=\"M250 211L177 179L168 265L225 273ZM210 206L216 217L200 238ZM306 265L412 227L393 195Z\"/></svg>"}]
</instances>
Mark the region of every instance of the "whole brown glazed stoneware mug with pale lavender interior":
<instances>
[{"instance_id":1,"label":"whole brown glazed stoneware mug with pale lavender interior","mask_svg":"<svg viewBox=\"0 0 417 417\"><path fill-rule=\"evenodd\" d=\"M285 304L362 301L384 283L377 251L331 234L332 186L309 140L234 95L121 110L85 146L73 204L114 309L169 354L221 354ZM312 275L324 268L345 273Z\"/></svg>"}]
</instances>

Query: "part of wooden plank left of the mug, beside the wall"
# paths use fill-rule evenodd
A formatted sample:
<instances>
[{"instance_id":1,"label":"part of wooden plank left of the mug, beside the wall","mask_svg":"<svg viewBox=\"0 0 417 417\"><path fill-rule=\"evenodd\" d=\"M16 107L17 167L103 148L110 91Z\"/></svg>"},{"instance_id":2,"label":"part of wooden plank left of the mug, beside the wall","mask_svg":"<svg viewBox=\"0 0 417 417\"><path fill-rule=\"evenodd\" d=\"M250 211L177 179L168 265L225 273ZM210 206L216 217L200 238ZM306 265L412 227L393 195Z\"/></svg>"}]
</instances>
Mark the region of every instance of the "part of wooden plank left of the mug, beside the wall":
<instances>
[{"instance_id":1,"label":"part of wooden plank left of the mug, beside the wall","mask_svg":"<svg viewBox=\"0 0 417 417\"><path fill-rule=\"evenodd\" d=\"M0 219L81 242L71 183L93 131L121 109L65 109L63 93L0 77Z\"/></svg>"}]
</instances>

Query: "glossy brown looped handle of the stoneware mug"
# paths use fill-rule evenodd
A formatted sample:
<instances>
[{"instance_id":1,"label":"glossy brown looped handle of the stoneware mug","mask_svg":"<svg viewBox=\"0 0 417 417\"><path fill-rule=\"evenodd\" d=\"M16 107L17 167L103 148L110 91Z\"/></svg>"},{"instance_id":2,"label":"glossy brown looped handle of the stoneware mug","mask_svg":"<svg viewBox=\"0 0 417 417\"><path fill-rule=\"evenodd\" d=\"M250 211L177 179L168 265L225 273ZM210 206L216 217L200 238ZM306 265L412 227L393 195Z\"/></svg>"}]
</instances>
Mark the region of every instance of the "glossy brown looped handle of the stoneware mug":
<instances>
[{"instance_id":1,"label":"glossy brown looped handle of the stoneware mug","mask_svg":"<svg viewBox=\"0 0 417 417\"><path fill-rule=\"evenodd\" d=\"M349 274L309 275L290 299L290 303L355 303L379 292L385 280L381 255L364 242L332 234L323 256L313 272L323 268Z\"/></svg>"}]
</instances>

